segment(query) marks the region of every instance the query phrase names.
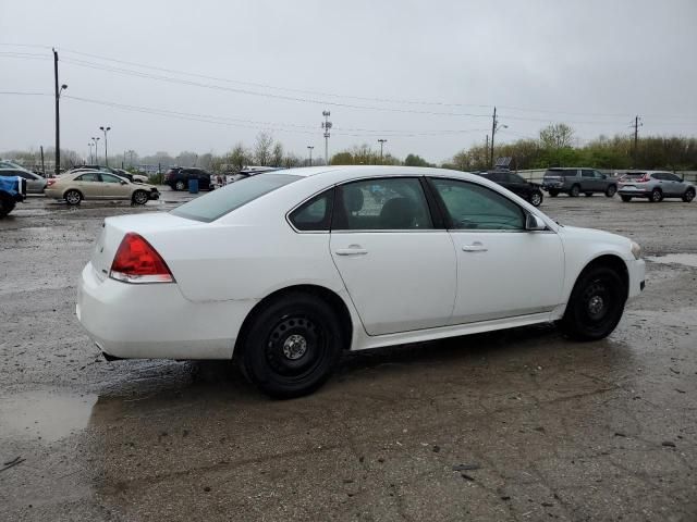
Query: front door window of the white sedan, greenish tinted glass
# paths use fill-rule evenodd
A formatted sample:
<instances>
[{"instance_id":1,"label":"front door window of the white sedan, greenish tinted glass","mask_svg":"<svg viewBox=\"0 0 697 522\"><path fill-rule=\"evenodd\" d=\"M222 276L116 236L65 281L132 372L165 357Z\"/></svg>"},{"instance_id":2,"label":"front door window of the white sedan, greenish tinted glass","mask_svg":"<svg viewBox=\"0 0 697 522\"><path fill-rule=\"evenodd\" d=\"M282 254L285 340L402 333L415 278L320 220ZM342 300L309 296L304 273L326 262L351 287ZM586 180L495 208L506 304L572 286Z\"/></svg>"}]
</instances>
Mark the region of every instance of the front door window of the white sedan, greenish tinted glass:
<instances>
[{"instance_id":1,"label":"front door window of the white sedan, greenish tinted glass","mask_svg":"<svg viewBox=\"0 0 697 522\"><path fill-rule=\"evenodd\" d=\"M450 216L450 228L523 231L525 213L490 188L455 179L431 179Z\"/></svg>"}]
</instances>

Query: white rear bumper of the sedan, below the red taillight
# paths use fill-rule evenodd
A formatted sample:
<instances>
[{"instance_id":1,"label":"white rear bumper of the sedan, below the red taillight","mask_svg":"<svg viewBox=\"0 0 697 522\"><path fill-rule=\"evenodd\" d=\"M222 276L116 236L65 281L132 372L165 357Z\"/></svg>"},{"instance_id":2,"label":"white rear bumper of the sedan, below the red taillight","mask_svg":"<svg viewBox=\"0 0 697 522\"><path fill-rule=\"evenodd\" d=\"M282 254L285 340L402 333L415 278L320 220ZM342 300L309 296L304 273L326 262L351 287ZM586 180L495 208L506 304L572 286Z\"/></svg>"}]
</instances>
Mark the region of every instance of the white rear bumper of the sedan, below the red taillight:
<instances>
[{"instance_id":1,"label":"white rear bumper of the sedan, below the red taillight","mask_svg":"<svg viewBox=\"0 0 697 522\"><path fill-rule=\"evenodd\" d=\"M252 300L194 302L176 284L127 284L82 272L75 313L105 353L123 359L230 359Z\"/></svg>"}]
</instances>

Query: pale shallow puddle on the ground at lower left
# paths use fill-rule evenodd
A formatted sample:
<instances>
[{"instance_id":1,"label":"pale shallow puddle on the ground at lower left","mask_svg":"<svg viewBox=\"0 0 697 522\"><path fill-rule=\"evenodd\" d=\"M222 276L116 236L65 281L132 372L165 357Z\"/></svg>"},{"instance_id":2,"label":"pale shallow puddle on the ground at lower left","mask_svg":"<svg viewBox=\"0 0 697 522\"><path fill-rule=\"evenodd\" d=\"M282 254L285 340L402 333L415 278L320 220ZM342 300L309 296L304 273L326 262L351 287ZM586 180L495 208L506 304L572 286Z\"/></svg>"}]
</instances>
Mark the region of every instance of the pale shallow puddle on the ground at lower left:
<instances>
[{"instance_id":1,"label":"pale shallow puddle on the ground at lower left","mask_svg":"<svg viewBox=\"0 0 697 522\"><path fill-rule=\"evenodd\" d=\"M29 391L0 398L0 439L60 440L87 426L95 395Z\"/></svg>"}]
</instances>

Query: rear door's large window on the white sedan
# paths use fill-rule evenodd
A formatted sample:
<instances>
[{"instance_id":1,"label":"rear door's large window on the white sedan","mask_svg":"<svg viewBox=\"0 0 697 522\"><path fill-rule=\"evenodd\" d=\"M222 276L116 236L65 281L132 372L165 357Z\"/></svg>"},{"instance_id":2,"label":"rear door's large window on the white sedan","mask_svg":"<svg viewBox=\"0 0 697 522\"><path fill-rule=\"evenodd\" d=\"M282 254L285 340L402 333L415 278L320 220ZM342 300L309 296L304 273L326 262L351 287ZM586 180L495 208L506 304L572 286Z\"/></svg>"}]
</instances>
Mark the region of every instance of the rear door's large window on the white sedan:
<instances>
[{"instance_id":1,"label":"rear door's large window on the white sedan","mask_svg":"<svg viewBox=\"0 0 697 522\"><path fill-rule=\"evenodd\" d=\"M412 231L432 228L418 178L364 179L337 188L332 231Z\"/></svg>"}]
</instances>

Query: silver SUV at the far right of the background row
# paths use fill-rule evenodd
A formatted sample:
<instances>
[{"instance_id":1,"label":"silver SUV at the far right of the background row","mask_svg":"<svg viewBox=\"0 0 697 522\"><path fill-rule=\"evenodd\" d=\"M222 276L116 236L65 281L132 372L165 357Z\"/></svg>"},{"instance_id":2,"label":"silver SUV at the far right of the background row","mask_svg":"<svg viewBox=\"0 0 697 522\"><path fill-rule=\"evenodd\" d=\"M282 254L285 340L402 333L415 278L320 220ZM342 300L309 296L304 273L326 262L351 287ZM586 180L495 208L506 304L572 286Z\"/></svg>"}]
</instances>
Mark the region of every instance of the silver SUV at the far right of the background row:
<instances>
[{"instance_id":1,"label":"silver SUV at the far right of the background row","mask_svg":"<svg viewBox=\"0 0 697 522\"><path fill-rule=\"evenodd\" d=\"M695 199L694 185L672 172L661 171L627 172L620 178L617 192L624 202L632 201L632 198L648 198L653 202L663 198L682 198L689 203Z\"/></svg>"}]
</instances>

